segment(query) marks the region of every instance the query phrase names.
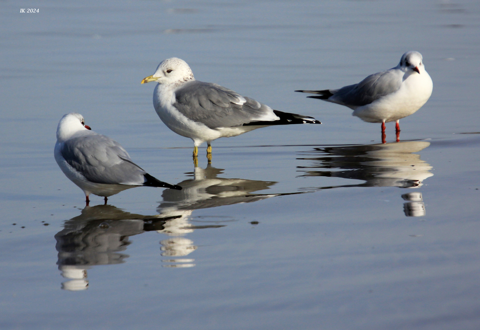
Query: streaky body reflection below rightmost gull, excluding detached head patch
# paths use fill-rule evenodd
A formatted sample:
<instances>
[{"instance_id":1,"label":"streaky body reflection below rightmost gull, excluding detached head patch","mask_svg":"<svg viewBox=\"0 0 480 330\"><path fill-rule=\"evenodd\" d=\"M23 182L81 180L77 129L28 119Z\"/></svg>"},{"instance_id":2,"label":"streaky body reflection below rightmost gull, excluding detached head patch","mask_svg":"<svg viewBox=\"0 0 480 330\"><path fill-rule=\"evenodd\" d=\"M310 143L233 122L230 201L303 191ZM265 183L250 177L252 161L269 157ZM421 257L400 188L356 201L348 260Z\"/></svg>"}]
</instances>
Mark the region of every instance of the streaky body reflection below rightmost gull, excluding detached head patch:
<instances>
[{"instance_id":1,"label":"streaky body reflection below rightmost gull, excluding detached head patch","mask_svg":"<svg viewBox=\"0 0 480 330\"><path fill-rule=\"evenodd\" d=\"M302 176L325 176L363 180L365 183L335 187L420 187L431 177L432 166L414 154L430 146L425 141L405 141L386 144L315 148L308 155L320 157L300 158L312 160L311 166L300 166ZM328 171L320 169L340 169ZM332 187L320 187L334 188Z\"/></svg>"}]
</instances>

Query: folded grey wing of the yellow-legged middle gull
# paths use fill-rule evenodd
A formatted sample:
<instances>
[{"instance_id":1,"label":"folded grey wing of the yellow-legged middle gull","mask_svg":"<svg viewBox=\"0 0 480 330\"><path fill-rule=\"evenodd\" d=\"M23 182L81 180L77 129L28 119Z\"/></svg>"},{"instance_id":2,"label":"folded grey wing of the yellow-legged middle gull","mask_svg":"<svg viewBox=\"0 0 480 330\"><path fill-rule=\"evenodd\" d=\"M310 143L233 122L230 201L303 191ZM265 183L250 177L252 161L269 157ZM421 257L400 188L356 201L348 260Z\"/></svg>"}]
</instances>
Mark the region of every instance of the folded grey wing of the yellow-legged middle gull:
<instances>
[{"instance_id":1,"label":"folded grey wing of the yellow-legged middle gull","mask_svg":"<svg viewBox=\"0 0 480 330\"><path fill-rule=\"evenodd\" d=\"M175 95L173 106L177 110L209 128L278 119L270 107L213 83L194 80L176 90Z\"/></svg>"}]
</instances>

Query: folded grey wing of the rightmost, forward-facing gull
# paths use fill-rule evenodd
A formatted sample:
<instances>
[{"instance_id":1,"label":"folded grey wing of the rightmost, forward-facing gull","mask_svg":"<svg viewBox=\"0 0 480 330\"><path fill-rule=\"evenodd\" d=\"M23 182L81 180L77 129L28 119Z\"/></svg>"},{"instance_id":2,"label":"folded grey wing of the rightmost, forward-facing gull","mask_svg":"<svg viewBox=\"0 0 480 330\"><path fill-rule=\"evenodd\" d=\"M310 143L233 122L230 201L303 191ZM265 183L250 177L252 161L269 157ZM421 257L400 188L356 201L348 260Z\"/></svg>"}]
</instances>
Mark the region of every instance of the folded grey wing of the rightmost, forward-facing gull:
<instances>
[{"instance_id":1,"label":"folded grey wing of the rightmost, forward-facing gull","mask_svg":"<svg viewBox=\"0 0 480 330\"><path fill-rule=\"evenodd\" d=\"M396 69L374 73L358 84L345 86L338 90L330 89L333 96L327 100L348 107L367 105L376 99L396 92L402 84L402 75L403 73Z\"/></svg>"}]
</instances>

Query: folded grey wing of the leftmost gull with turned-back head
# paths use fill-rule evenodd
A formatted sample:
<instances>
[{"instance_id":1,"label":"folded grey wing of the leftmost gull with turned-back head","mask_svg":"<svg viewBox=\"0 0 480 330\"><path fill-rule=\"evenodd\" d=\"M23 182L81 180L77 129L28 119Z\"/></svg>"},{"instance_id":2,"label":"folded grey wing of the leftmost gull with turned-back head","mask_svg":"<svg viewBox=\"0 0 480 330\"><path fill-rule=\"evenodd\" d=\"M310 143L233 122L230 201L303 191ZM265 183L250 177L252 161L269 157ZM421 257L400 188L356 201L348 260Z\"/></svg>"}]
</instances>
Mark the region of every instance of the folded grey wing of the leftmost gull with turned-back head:
<instances>
[{"instance_id":1,"label":"folded grey wing of the leftmost gull with turned-back head","mask_svg":"<svg viewBox=\"0 0 480 330\"><path fill-rule=\"evenodd\" d=\"M108 136L92 132L63 143L62 157L76 171L94 183L143 184L142 168L132 162L127 151Z\"/></svg>"}]
</instances>

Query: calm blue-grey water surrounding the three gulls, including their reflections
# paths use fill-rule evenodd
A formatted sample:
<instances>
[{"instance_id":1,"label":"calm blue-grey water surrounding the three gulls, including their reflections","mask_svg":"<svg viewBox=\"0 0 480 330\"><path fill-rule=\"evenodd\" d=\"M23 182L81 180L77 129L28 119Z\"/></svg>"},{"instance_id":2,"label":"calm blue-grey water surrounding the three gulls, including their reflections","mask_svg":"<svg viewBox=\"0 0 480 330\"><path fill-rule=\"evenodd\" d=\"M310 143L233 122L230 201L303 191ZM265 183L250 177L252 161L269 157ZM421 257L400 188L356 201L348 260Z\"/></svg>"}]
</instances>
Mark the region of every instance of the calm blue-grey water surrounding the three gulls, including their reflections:
<instances>
[{"instance_id":1,"label":"calm blue-grey water surrounding the three gulls, including their reflections","mask_svg":"<svg viewBox=\"0 0 480 330\"><path fill-rule=\"evenodd\" d=\"M479 329L478 1L0 3L1 329ZM387 124L295 89L422 53L433 94ZM322 125L213 143L158 119L159 61ZM182 191L83 192L53 159L82 113Z\"/></svg>"}]
</instances>

